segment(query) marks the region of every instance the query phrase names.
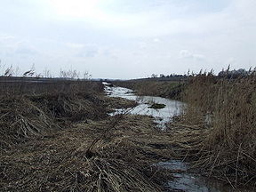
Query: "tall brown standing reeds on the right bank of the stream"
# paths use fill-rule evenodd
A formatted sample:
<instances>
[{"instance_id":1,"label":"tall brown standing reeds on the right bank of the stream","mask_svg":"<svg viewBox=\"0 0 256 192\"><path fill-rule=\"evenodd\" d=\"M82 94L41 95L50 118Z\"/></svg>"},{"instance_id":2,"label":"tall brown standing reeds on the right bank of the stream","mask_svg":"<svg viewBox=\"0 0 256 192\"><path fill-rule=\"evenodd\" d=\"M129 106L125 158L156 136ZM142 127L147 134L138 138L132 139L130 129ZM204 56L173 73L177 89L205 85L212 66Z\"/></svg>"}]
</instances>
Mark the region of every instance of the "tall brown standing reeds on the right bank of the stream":
<instances>
[{"instance_id":1,"label":"tall brown standing reeds on the right bank of the stream","mask_svg":"<svg viewBox=\"0 0 256 192\"><path fill-rule=\"evenodd\" d=\"M256 76L191 77L184 116L171 125L183 156L234 188L256 185Z\"/></svg>"}]
</instances>

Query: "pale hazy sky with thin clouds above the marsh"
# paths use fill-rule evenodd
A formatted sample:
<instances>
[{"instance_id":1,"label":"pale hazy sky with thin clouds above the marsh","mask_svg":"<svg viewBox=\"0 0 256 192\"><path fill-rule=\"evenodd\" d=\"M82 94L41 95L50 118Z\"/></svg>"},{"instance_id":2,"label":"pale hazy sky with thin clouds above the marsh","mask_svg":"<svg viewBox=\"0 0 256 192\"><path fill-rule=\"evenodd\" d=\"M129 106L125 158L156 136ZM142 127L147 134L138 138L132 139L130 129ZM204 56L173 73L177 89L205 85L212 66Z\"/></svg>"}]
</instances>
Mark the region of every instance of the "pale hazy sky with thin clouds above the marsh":
<instances>
[{"instance_id":1,"label":"pale hazy sky with thin clouds above the marsh","mask_svg":"<svg viewBox=\"0 0 256 192\"><path fill-rule=\"evenodd\" d=\"M1 0L0 60L121 79L254 68L256 1Z\"/></svg>"}]
</instances>

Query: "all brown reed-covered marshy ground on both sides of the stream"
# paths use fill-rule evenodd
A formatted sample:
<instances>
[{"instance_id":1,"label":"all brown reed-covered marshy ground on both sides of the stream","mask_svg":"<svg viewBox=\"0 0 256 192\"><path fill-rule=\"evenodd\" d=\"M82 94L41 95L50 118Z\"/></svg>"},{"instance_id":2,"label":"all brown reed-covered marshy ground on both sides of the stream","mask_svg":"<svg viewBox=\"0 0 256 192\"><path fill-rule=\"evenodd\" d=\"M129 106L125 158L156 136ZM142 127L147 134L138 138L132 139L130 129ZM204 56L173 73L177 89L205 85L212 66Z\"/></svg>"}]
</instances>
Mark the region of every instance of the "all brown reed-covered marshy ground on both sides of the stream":
<instances>
[{"instance_id":1,"label":"all brown reed-covered marshy ground on both sides of the stream","mask_svg":"<svg viewBox=\"0 0 256 192\"><path fill-rule=\"evenodd\" d=\"M152 116L109 116L138 104L108 97L97 82L2 84L1 191L212 191L173 188L188 172L226 182L225 192L253 191L254 83L211 75L160 83L188 103L164 132ZM140 92L149 83L124 86Z\"/></svg>"}]
</instances>

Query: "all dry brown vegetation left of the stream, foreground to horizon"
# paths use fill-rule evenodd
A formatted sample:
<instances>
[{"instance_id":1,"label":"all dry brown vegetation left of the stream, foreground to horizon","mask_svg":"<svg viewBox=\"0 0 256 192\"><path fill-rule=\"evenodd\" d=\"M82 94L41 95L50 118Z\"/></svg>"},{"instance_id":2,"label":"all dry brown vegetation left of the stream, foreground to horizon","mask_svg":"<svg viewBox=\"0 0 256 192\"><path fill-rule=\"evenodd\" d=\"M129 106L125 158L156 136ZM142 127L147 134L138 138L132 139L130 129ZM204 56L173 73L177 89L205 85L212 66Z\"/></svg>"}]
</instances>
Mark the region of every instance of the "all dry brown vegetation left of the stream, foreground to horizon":
<instances>
[{"instance_id":1,"label":"all dry brown vegetation left of the stream, foreground to horizon","mask_svg":"<svg viewBox=\"0 0 256 192\"><path fill-rule=\"evenodd\" d=\"M164 134L148 116L108 116L134 102L89 81L1 84L1 191L164 190Z\"/></svg>"}]
</instances>

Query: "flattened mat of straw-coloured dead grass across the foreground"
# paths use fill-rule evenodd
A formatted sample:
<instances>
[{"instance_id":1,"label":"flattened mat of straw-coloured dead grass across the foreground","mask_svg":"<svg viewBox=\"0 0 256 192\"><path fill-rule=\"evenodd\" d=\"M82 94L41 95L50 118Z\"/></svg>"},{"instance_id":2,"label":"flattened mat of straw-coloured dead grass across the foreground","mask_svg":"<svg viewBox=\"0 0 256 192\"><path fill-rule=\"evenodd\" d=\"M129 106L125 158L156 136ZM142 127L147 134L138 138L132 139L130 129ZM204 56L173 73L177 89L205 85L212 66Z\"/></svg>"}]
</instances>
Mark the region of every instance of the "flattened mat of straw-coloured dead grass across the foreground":
<instances>
[{"instance_id":1,"label":"flattened mat of straw-coloured dead grass across the foreground","mask_svg":"<svg viewBox=\"0 0 256 192\"><path fill-rule=\"evenodd\" d=\"M148 116L124 117L111 134L97 143L92 156L86 156L92 141L112 126L115 118L76 124L72 129L30 140L16 150L5 152L1 156L0 188L4 191L163 191L167 174L152 164L164 156L148 145L160 133Z\"/></svg>"}]
</instances>

